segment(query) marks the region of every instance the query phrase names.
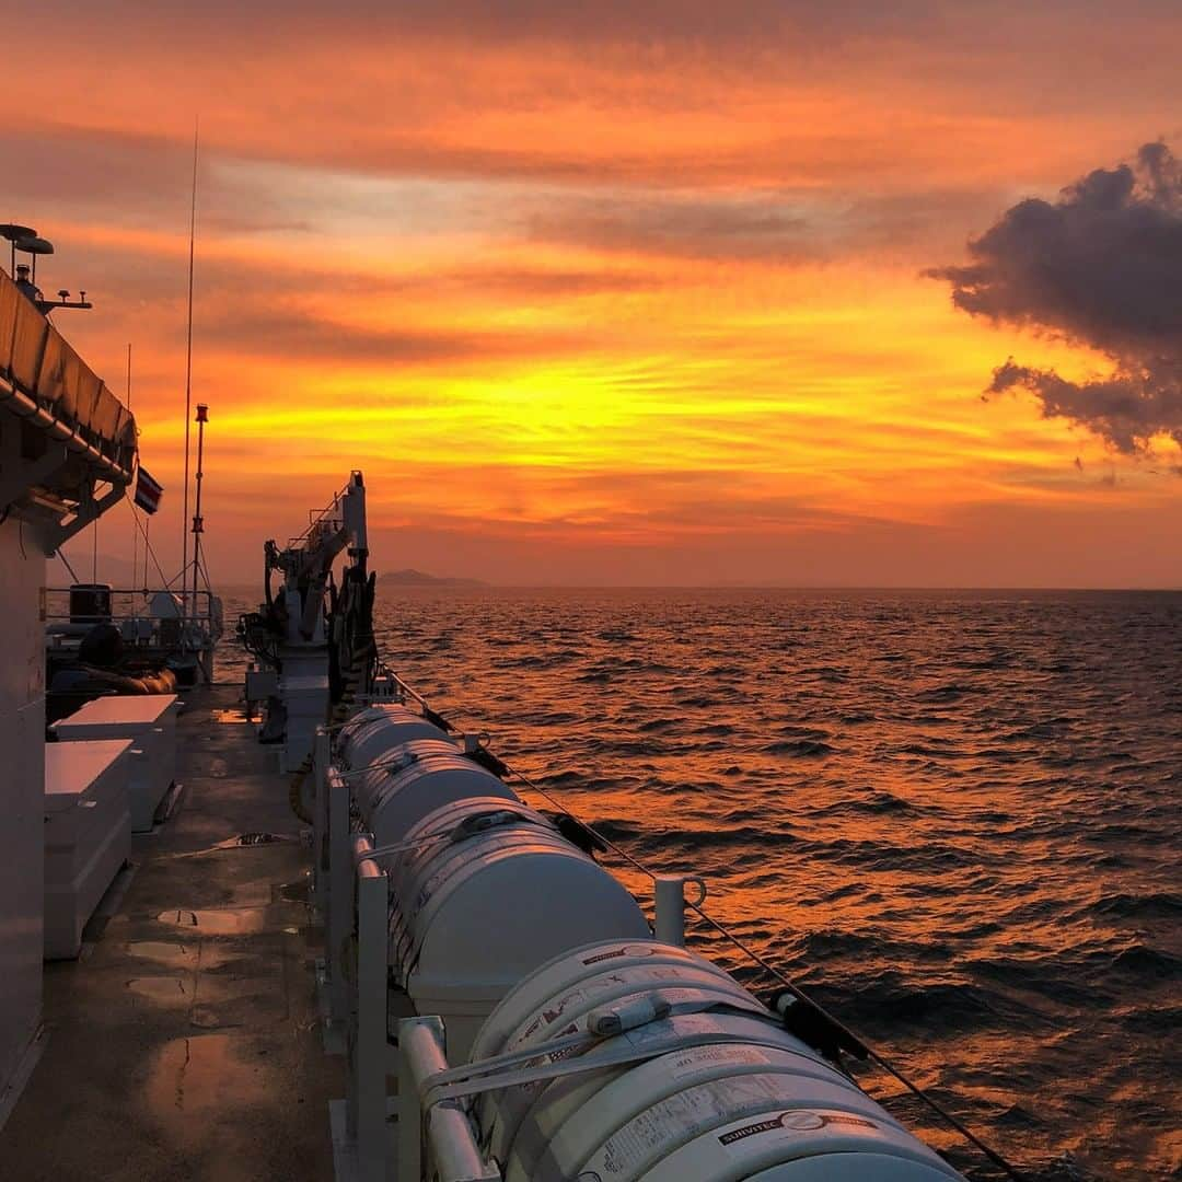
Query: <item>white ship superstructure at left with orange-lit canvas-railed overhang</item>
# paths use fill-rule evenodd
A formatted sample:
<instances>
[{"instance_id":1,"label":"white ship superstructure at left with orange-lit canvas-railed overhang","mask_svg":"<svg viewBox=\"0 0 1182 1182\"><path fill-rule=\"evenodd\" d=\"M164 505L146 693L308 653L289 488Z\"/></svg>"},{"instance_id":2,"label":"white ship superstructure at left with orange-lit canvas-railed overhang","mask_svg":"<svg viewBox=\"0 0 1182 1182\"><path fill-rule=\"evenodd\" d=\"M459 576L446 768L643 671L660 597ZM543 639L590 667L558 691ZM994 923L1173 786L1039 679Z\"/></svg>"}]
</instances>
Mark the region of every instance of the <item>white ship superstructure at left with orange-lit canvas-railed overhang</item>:
<instances>
[{"instance_id":1,"label":"white ship superstructure at left with orange-lit canvas-railed overhang","mask_svg":"<svg viewBox=\"0 0 1182 1182\"><path fill-rule=\"evenodd\" d=\"M136 465L131 414L0 272L0 1115L41 1013L46 559L123 499Z\"/></svg>"}]
</instances>

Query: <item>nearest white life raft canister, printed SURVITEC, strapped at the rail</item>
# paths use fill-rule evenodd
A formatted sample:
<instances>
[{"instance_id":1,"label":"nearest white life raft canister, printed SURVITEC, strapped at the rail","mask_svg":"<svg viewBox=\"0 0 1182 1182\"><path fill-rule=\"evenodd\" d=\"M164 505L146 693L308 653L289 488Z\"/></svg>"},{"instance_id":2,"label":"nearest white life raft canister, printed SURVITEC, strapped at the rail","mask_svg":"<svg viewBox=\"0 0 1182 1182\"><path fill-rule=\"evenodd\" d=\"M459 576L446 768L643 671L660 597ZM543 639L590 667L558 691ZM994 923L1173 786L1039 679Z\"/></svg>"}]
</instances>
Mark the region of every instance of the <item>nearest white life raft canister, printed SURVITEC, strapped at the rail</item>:
<instances>
[{"instance_id":1,"label":"nearest white life raft canister, printed SURVITEC, strapped at the rail","mask_svg":"<svg viewBox=\"0 0 1182 1182\"><path fill-rule=\"evenodd\" d=\"M506 1182L961 1177L734 979L652 941L600 942L543 966L489 1015L473 1061L590 1038L605 1014L609 1031L625 1015L622 1033L548 1061L624 1061L480 1097L481 1134Z\"/></svg>"}]
</instances>

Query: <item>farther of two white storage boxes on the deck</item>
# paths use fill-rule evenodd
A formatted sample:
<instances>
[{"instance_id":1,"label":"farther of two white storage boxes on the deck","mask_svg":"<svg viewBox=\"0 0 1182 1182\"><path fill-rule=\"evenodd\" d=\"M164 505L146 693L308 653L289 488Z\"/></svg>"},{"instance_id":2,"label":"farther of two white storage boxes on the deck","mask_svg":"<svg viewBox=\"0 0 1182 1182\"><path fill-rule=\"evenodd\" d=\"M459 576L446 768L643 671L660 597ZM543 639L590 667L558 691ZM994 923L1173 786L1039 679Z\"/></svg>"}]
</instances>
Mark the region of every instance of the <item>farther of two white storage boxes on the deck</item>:
<instances>
[{"instance_id":1,"label":"farther of two white storage boxes on the deck","mask_svg":"<svg viewBox=\"0 0 1182 1182\"><path fill-rule=\"evenodd\" d=\"M143 752L132 767L131 829L145 833L176 775L176 694L99 697L52 726L63 740L131 739Z\"/></svg>"}]
</instances>

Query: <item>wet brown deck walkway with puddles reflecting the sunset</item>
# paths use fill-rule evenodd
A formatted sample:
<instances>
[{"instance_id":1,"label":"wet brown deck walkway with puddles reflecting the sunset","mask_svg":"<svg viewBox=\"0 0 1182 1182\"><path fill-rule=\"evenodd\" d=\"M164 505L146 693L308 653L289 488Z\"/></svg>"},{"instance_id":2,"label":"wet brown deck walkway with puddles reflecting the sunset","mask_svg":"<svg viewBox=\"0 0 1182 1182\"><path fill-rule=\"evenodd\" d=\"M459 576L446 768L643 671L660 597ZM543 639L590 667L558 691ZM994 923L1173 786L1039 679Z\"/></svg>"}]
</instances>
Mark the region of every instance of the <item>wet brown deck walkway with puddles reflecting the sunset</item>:
<instances>
[{"instance_id":1,"label":"wet brown deck walkway with puddles reflecting the sunset","mask_svg":"<svg viewBox=\"0 0 1182 1182\"><path fill-rule=\"evenodd\" d=\"M310 851L274 748L215 721L238 696L189 696L177 811L134 839L126 894L84 959L46 965L47 1040L0 1132L5 1180L332 1177L327 1103L344 1085L317 1020ZM219 847L258 832L292 840Z\"/></svg>"}]
</instances>

